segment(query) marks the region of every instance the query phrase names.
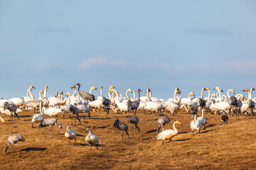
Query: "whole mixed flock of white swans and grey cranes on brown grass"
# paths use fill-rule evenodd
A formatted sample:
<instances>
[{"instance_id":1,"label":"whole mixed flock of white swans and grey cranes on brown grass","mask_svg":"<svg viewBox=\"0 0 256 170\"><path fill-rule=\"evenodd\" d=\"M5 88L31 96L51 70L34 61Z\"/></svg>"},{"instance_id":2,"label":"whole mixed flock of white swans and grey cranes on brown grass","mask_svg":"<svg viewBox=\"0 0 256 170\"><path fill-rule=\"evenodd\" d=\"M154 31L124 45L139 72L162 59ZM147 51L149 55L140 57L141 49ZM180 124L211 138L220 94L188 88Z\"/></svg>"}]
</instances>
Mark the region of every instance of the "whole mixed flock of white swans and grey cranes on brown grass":
<instances>
[{"instance_id":1,"label":"whole mixed flock of white swans and grey cranes on brown grass","mask_svg":"<svg viewBox=\"0 0 256 170\"><path fill-rule=\"evenodd\" d=\"M76 87L78 86L78 88ZM39 127L50 127L50 135L51 134L51 126L58 126L60 129L61 125L58 125L58 115L63 114L63 118L65 118L65 114L69 114L71 119L71 125L73 125L73 115L75 115L75 120L78 119L80 123L79 113L83 114L83 118L85 118L85 113L88 114L90 118L90 113L92 111L100 111L103 109L105 111L105 116L110 113L110 109L114 113L127 113L132 112L133 116L129 116L127 118L127 123L132 123L135 125L135 131L140 131L137 126L139 123L139 118L137 118L137 112L146 111L151 113L157 113L159 115L163 115L158 119L159 128L157 132L160 131L160 128L163 127L163 130L156 136L157 140L163 140L162 144L164 144L165 140L171 140L172 137L178 134L178 130L175 125L182 125L180 121L175 121L173 124L174 130L164 130L164 125L170 122L170 119L167 115L164 115L164 111L167 111L173 115L177 111L180 111L182 108L185 108L187 113L191 113L193 116L193 120L191 120L191 130L198 130L200 132L202 125L206 128L207 119L204 116L204 112L208 111L212 114L222 114L220 118L220 125L223 123L228 123L228 113L235 113L237 115L237 119L239 119L239 115L252 115L254 116L254 108L256 98L252 98L252 91L254 88L245 89L243 91L247 92L247 98L243 94L236 94L233 89L228 90L227 96L225 94L221 94L223 92L219 87L215 87L214 89L217 91L215 94L210 94L210 88L202 88L201 96L195 97L193 92L188 94L188 98L181 98L181 91L176 87L174 89L174 98L164 99L164 98L156 98L152 97L151 89L146 89L146 96L140 96L140 89L137 90L138 98L136 98L135 91L132 89L127 89L125 96L122 97L122 94L114 89L114 86L110 86L108 89L108 97L102 96L102 86L100 86L100 96L97 98L92 94L92 90L97 90L95 86L92 86L90 92L87 93L85 91L80 91L80 84L75 84L71 86L71 89L74 89L72 95L69 92L65 94L66 98L63 98L63 91L60 94L57 93L53 97L47 97L48 86L45 86L45 89L41 89L39 91L39 98L35 99L32 92L33 89L36 89L34 86L30 86L27 91L27 96L17 97L17 98L9 98L9 99L0 99L0 113L9 115L9 121L13 123L13 117L16 115L18 118L18 113L21 113L24 110L31 109L35 112L32 122L32 128L34 123L39 123ZM203 92L208 91L208 96L203 98ZM129 97L129 92L133 93L133 98ZM233 96L230 96L230 92L233 93ZM78 95L76 95L78 93ZM42 96L43 94L43 96ZM36 113L38 111L40 113ZM201 116L198 116L198 111L201 112ZM46 115L49 115L50 118L45 118ZM52 118L56 116L56 118ZM0 116L0 120L2 123L6 123L3 118ZM75 125L75 122L74 122ZM114 121L114 128L121 130L122 132L122 140L124 131L126 132L129 139L132 137L128 133L128 125L122 123L119 119ZM89 132L85 137L85 142L87 142L90 147L95 145L98 147L99 140L97 135L92 134L92 130L87 128ZM194 133L194 132L193 132ZM70 140L75 140L76 144L76 132L75 130L70 130L70 126L67 126L65 137ZM21 134L12 135L7 139L8 146L4 149L4 152L8 149L10 144L15 144L18 141L24 142L25 139ZM16 145L17 153L18 148Z\"/></svg>"}]
</instances>

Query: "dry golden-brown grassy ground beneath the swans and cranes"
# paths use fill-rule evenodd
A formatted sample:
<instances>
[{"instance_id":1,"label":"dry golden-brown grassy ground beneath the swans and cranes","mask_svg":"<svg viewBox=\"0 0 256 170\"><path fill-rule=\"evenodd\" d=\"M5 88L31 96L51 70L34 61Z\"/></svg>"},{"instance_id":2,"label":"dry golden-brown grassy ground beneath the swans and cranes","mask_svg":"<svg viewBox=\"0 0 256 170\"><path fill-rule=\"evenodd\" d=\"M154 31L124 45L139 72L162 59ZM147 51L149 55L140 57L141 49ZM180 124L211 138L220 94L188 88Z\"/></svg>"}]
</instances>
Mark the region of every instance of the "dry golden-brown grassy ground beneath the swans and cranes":
<instances>
[{"instance_id":1,"label":"dry golden-brown grassy ground beneath the swans and cranes","mask_svg":"<svg viewBox=\"0 0 256 170\"><path fill-rule=\"evenodd\" d=\"M208 127L192 135L191 115L183 111L176 116L168 113L171 123L166 129L172 129L174 120L180 120L183 126L176 125L180 134L161 145L161 141L156 141L159 115L138 113L141 132L132 134L129 124L132 140L124 135L124 142L112 125L115 118L127 123L127 116L132 113L110 113L108 119L105 113L92 113L91 119L81 117L82 124L75 127L66 115L65 119L58 119L63 129L54 126L52 137L49 130L45 136L44 128L31 128L33 111L20 115L20 120L14 118L14 126L8 121L6 125L0 123L1 169L256 169L256 119L241 116L235 120L230 115L229 123L220 125L220 115L206 114ZM67 125L78 133L78 145L73 145L75 141L69 145L65 139ZM110 126L106 128L107 125ZM88 127L99 137L98 150L85 145ZM11 153L11 147L4 154L7 137L18 133L26 139L25 143L18 142L20 157Z\"/></svg>"}]
</instances>

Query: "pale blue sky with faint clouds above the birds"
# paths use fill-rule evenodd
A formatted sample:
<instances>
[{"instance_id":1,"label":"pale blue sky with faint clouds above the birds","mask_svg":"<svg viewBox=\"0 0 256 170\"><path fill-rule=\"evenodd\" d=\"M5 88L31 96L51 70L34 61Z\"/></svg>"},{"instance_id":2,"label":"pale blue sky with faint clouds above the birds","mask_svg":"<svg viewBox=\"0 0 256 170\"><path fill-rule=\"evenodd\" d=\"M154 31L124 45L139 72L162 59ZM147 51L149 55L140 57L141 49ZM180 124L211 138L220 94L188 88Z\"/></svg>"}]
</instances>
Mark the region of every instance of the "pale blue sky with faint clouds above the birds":
<instances>
[{"instance_id":1,"label":"pale blue sky with faint clouds above the birds","mask_svg":"<svg viewBox=\"0 0 256 170\"><path fill-rule=\"evenodd\" d=\"M255 86L256 1L0 0L0 98ZM73 92L73 91L72 91ZM94 92L100 95L100 91Z\"/></svg>"}]
</instances>

